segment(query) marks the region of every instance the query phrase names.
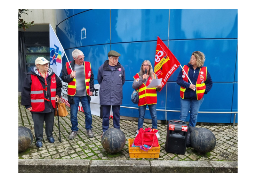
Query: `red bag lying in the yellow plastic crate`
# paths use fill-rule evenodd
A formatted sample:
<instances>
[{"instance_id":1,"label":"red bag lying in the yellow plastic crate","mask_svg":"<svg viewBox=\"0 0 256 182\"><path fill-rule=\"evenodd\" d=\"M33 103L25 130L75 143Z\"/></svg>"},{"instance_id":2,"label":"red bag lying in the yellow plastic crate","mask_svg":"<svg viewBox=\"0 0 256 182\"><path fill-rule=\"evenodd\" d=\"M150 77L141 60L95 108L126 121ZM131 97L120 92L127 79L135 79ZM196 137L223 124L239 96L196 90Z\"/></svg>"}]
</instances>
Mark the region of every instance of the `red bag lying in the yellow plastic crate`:
<instances>
[{"instance_id":1,"label":"red bag lying in the yellow plastic crate","mask_svg":"<svg viewBox=\"0 0 256 182\"><path fill-rule=\"evenodd\" d=\"M139 129L138 134L136 138L134 139L134 145L135 146L142 146L145 150L149 150L152 147L158 147L158 139L157 135L157 129L151 129L151 128L146 128L143 130L142 128ZM144 145L151 146L149 149L145 148Z\"/></svg>"}]
</instances>

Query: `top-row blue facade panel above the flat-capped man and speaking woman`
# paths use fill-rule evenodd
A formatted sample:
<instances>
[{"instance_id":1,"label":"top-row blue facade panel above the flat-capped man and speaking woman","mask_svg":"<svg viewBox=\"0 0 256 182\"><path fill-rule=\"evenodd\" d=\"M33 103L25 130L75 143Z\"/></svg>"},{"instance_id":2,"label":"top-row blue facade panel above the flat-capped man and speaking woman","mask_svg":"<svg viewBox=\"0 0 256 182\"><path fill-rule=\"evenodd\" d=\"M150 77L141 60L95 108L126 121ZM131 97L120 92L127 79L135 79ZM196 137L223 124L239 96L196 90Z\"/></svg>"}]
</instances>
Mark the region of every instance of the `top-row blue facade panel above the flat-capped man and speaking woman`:
<instances>
[{"instance_id":1,"label":"top-row blue facade panel above the flat-capped man and speaking woman","mask_svg":"<svg viewBox=\"0 0 256 182\"><path fill-rule=\"evenodd\" d=\"M111 9L111 43L168 39L169 9Z\"/></svg>"}]
</instances>

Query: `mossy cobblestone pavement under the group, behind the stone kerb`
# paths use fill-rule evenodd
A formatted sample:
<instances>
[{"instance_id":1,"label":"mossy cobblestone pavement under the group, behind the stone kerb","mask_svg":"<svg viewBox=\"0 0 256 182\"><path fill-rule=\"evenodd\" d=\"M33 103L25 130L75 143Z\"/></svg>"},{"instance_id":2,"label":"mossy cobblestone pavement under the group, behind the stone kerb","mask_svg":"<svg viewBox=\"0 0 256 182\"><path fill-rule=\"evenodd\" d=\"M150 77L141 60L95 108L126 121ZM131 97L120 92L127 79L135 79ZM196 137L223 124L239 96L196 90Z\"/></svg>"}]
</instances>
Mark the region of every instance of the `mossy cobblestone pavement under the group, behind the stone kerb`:
<instances>
[{"instance_id":1,"label":"mossy cobblestone pavement under the group, behind the stone kerb","mask_svg":"<svg viewBox=\"0 0 256 182\"><path fill-rule=\"evenodd\" d=\"M18 125L31 129L34 134L34 125L29 110L21 105L21 96L19 96L18 107ZM68 113L70 108L66 107ZM216 137L217 143L213 151L206 154L199 154L192 147L186 148L185 155L173 154L165 151L166 126L158 124L160 133L159 144L160 157L157 159L136 159L129 157L128 139L135 138L137 122L120 120L120 129L125 133L126 145L117 154L106 152L101 144L102 119L93 115L94 137L89 138L85 129L85 115L78 111L78 135L73 140L69 140L71 133L70 115L59 117L61 127L61 140L59 142L58 119L55 116L53 137L55 143L49 143L45 131L43 135L43 147L37 148L35 142L23 152L18 153L19 159L91 159L91 160L205 160L205 161L238 161L238 126L233 129L232 125L197 125L196 127L205 127L211 130ZM151 124L144 123L143 127L151 127ZM113 128L113 121L110 120L110 128Z\"/></svg>"}]
</instances>

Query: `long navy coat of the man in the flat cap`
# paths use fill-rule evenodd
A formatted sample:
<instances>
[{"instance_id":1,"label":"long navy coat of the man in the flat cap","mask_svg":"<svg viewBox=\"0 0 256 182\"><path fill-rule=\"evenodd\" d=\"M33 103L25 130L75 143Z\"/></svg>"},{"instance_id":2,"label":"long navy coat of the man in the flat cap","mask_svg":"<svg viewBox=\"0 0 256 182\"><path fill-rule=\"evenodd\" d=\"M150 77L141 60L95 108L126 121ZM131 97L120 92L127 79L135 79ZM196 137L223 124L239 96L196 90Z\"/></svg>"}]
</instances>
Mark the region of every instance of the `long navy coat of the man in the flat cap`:
<instances>
[{"instance_id":1,"label":"long navy coat of the man in the flat cap","mask_svg":"<svg viewBox=\"0 0 256 182\"><path fill-rule=\"evenodd\" d=\"M123 99L123 84L125 83L125 68L118 62L113 71L106 60L98 70L99 104L104 106L120 106Z\"/></svg>"}]
</instances>

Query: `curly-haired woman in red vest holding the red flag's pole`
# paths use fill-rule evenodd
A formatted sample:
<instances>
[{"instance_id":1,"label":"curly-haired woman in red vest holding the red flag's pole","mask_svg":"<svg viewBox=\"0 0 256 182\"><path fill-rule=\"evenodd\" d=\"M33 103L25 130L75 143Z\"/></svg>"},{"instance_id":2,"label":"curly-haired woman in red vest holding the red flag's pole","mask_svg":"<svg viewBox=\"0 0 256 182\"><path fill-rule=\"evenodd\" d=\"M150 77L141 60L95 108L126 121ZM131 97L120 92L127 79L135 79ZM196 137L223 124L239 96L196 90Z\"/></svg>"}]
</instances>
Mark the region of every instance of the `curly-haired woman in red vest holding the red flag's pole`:
<instances>
[{"instance_id":1,"label":"curly-haired woman in red vest holding the red flag's pole","mask_svg":"<svg viewBox=\"0 0 256 182\"><path fill-rule=\"evenodd\" d=\"M177 84L181 86L181 114L179 120L185 121L190 111L189 126L195 127L199 108L204 100L204 94L207 94L213 86L210 73L205 63L205 55L200 51L194 51L191 55L190 62L184 65L183 69L189 76L192 83L183 70L177 77Z\"/></svg>"}]
</instances>

